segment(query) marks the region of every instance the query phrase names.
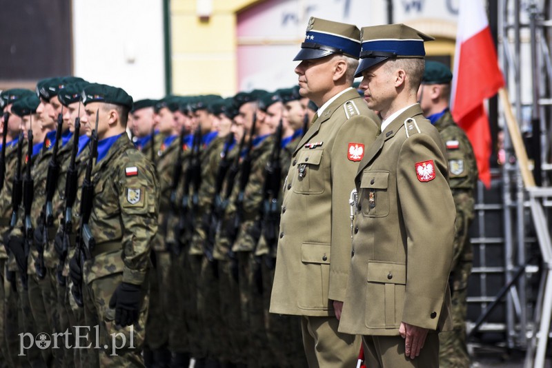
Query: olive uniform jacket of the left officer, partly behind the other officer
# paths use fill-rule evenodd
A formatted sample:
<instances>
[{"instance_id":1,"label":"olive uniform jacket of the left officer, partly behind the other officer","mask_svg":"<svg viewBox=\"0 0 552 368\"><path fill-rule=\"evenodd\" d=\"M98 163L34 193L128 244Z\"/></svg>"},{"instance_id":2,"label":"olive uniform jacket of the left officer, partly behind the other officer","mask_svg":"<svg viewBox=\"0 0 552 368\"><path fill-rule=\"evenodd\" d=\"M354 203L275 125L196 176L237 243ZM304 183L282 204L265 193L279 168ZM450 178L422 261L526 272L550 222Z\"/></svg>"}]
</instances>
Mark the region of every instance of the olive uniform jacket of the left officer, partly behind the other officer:
<instances>
[{"instance_id":1,"label":"olive uniform jacket of the left officer, partly behind the other officer","mask_svg":"<svg viewBox=\"0 0 552 368\"><path fill-rule=\"evenodd\" d=\"M331 300L344 300L348 201L358 163L378 131L379 119L351 89L328 105L297 145L284 182L270 312L333 316Z\"/></svg>"}]
</instances>

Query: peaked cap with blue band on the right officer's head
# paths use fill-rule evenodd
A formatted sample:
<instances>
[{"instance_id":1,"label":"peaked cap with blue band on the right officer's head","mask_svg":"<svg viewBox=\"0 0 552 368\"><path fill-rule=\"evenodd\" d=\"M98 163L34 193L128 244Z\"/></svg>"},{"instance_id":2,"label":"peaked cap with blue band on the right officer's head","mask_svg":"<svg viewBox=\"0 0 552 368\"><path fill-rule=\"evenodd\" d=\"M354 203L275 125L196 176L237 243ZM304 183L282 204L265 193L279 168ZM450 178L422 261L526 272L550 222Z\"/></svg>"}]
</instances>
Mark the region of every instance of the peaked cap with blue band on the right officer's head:
<instances>
[{"instance_id":1,"label":"peaked cap with blue band on the right officer's head","mask_svg":"<svg viewBox=\"0 0 552 368\"><path fill-rule=\"evenodd\" d=\"M424 41L434 38L404 24L385 24L363 27L360 61L355 77L388 59L424 59Z\"/></svg>"}]
</instances>

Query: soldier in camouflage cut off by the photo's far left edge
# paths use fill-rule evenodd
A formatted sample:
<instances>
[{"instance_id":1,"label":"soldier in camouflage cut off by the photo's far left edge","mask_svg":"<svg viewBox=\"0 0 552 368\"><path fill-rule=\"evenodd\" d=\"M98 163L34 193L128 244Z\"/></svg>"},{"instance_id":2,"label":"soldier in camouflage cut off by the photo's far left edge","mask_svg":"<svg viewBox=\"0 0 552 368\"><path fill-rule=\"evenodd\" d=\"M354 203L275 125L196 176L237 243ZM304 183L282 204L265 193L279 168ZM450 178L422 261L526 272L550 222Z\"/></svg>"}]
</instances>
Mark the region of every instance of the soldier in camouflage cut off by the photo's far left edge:
<instances>
[{"instance_id":1,"label":"soldier in camouflage cut off by the photo's far left edge","mask_svg":"<svg viewBox=\"0 0 552 368\"><path fill-rule=\"evenodd\" d=\"M0 273L2 276L1 287L1 307L2 307L2 353L5 361L10 366L19 366L26 364L26 361L32 359L40 359L39 351L30 351L27 357L17 356L19 351L19 336L18 334L28 331L26 327L32 326L32 314L28 310L28 314L23 314L21 310L21 299L17 293L16 276L17 265L13 255L6 253L6 243L4 236L7 236L10 229L10 217L12 214L12 182L17 162L17 145L19 143L19 132L21 131L21 119L12 114L11 108L14 101L21 99L23 96L34 96L31 90L11 89L1 93L1 105L3 112L8 112L7 120L4 121L2 116L2 125L6 124L8 129L6 136L6 172L4 177L3 187L0 192ZM3 128L3 126L2 126ZM26 305L28 306L28 299ZM31 324L26 325L24 321ZM34 328L34 327L33 327Z\"/></svg>"}]
</instances>

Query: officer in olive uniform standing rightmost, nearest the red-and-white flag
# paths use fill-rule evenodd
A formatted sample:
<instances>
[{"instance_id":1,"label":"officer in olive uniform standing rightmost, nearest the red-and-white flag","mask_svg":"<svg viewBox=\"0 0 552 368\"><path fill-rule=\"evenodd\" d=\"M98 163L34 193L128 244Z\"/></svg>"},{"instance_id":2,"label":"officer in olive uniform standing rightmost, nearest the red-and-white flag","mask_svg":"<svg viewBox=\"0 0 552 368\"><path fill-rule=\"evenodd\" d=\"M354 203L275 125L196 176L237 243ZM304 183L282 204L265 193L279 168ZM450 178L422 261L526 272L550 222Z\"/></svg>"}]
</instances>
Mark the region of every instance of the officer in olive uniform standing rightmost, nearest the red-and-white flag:
<instances>
[{"instance_id":1,"label":"officer in olive uniform standing rightmost, nearest the red-and-white flag","mask_svg":"<svg viewBox=\"0 0 552 368\"><path fill-rule=\"evenodd\" d=\"M339 331L363 335L368 367L438 367L437 332L451 328L456 213L444 143L416 103L424 41L433 38L402 24L362 34L356 75L383 121L355 178Z\"/></svg>"}]
</instances>

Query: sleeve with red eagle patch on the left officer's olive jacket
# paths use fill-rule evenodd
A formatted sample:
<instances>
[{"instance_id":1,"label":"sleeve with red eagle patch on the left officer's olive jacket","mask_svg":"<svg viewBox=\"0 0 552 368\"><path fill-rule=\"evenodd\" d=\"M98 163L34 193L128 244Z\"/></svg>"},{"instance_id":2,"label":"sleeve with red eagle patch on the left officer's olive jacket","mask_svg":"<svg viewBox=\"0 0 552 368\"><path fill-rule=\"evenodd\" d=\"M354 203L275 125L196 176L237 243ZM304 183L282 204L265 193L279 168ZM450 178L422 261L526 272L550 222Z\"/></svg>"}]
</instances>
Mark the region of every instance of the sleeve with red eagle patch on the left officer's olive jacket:
<instances>
[{"instance_id":1,"label":"sleeve with red eagle patch on the left officer's olive jacket","mask_svg":"<svg viewBox=\"0 0 552 368\"><path fill-rule=\"evenodd\" d=\"M349 119L337 132L331 152L332 235L328 298L343 301L351 263L351 206L358 164L375 141L378 125L368 116ZM350 147L352 150L350 151ZM360 151L362 147L362 152Z\"/></svg>"}]
</instances>

